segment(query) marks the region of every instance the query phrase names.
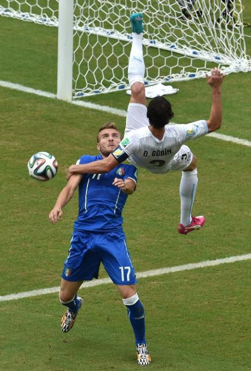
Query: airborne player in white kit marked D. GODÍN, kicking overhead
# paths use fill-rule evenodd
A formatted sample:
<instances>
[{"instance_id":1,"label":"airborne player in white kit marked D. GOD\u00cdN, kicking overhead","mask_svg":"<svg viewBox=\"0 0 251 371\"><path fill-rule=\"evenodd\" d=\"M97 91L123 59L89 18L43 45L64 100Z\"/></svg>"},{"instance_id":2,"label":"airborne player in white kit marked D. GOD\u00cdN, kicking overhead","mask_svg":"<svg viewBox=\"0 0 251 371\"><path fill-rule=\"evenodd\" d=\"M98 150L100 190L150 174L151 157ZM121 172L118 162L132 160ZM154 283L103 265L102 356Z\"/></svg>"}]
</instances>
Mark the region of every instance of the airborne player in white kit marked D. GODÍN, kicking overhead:
<instances>
[{"instance_id":1,"label":"airborne player in white kit marked D. GOD\u00cdN, kicking overhead","mask_svg":"<svg viewBox=\"0 0 251 371\"><path fill-rule=\"evenodd\" d=\"M124 138L105 159L91 164L70 166L67 177L73 173L105 173L128 158L132 163L156 174L181 170L181 217L178 232L187 234L203 227L205 218L191 215L198 183L197 159L184 143L220 128L221 85L224 74L218 68L213 68L210 77L206 76L207 83L212 88L212 105L208 120L167 125L174 114L171 104L164 97L154 98L146 107L143 15L135 13L130 19L133 43L128 75L132 95Z\"/></svg>"}]
</instances>

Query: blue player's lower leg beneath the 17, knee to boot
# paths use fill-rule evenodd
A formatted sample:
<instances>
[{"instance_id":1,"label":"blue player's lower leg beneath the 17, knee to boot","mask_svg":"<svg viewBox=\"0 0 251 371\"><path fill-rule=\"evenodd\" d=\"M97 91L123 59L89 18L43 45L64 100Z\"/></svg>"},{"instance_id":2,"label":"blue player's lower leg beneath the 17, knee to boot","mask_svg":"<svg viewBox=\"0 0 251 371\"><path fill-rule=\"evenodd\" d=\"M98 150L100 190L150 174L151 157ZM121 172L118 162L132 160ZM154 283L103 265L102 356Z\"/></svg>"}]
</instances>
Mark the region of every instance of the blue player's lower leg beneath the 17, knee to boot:
<instances>
[{"instance_id":1,"label":"blue player's lower leg beneath the 17, knee to boot","mask_svg":"<svg viewBox=\"0 0 251 371\"><path fill-rule=\"evenodd\" d=\"M123 304L128 310L128 318L132 324L137 350L137 362L141 366L150 364L151 357L147 349L145 311L137 294L136 285L117 285Z\"/></svg>"}]
</instances>

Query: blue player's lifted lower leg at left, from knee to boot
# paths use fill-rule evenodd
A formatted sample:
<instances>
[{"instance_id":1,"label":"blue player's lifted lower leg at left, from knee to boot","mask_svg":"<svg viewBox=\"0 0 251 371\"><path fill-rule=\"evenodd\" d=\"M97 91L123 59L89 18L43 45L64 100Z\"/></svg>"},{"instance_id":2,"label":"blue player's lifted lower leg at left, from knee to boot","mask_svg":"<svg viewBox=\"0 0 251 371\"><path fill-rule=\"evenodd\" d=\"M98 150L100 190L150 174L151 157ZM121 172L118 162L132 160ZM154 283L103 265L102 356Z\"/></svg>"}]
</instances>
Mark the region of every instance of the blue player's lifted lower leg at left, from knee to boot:
<instances>
[{"instance_id":1,"label":"blue player's lifted lower leg at left, from knee to boot","mask_svg":"<svg viewBox=\"0 0 251 371\"><path fill-rule=\"evenodd\" d=\"M68 307L61 320L61 330L68 332L74 325L76 316L83 305L83 299L77 296L77 291L83 281L71 282L61 279L59 301Z\"/></svg>"}]
</instances>

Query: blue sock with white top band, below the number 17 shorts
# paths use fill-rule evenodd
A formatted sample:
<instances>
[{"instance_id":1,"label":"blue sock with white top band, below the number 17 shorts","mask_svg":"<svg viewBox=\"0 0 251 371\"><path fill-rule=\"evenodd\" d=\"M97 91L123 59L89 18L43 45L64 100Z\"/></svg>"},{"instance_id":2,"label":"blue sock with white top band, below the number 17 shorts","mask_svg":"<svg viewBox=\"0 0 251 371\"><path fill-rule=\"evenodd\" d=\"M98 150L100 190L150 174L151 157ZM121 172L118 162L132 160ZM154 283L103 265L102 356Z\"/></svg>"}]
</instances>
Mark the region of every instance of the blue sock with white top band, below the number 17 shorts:
<instances>
[{"instance_id":1,"label":"blue sock with white top band, below the number 17 shorts","mask_svg":"<svg viewBox=\"0 0 251 371\"><path fill-rule=\"evenodd\" d=\"M128 318L134 330L136 345L146 344L145 312L138 294L129 299L122 299L122 301L128 310Z\"/></svg>"}]
</instances>

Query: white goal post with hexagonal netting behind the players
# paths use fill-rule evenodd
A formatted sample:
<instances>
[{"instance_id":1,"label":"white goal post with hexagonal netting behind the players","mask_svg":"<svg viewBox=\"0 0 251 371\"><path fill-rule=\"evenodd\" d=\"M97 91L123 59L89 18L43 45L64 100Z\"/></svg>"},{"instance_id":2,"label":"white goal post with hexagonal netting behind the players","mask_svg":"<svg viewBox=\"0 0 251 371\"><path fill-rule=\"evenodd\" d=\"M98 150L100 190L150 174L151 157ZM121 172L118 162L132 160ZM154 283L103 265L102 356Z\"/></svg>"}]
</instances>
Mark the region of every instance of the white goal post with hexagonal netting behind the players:
<instances>
[{"instance_id":1,"label":"white goal post with hexagonal netting behind the players","mask_svg":"<svg viewBox=\"0 0 251 371\"><path fill-rule=\"evenodd\" d=\"M146 84L251 70L241 0L1 0L0 15L59 28L57 97L128 87L130 14L144 14Z\"/></svg>"}]
</instances>

